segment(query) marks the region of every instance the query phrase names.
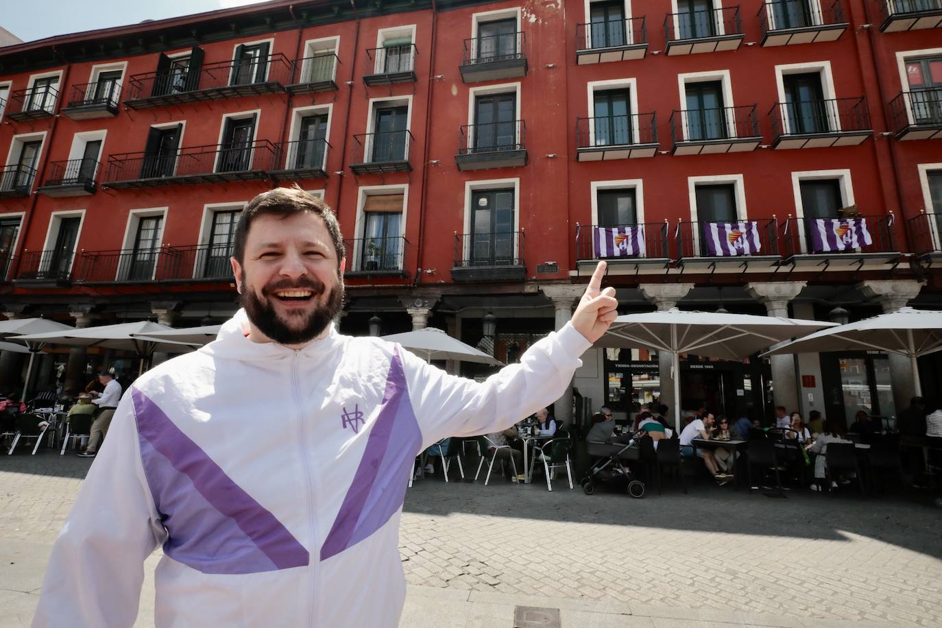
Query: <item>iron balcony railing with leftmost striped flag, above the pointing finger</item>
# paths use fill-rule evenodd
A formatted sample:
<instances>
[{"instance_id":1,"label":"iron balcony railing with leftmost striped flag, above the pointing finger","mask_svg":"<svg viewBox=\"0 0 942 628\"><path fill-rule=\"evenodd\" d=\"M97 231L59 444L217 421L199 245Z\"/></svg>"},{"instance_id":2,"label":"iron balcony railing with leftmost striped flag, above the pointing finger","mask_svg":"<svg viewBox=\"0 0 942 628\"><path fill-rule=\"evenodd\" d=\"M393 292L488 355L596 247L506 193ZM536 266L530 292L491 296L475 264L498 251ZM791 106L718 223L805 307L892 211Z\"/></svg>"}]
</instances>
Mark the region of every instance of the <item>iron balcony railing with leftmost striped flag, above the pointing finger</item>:
<instances>
[{"instance_id":1,"label":"iron balcony railing with leftmost striped flag, above the pointing finger","mask_svg":"<svg viewBox=\"0 0 942 628\"><path fill-rule=\"evenodd\" d=\"M639 227L640 229L637 229ZM638 242L641 239L639 237L641 233L643 233L643 247ZM623 238L628 239L628 242L625 242L624 245ZM631 238L635 238L635 240L633 241ZM576 259L667 259L671 256L668 250L667 238L668 224L666 220L664 222L630 225L579 225L576 230Z\"/></svg>"}]
</instances>

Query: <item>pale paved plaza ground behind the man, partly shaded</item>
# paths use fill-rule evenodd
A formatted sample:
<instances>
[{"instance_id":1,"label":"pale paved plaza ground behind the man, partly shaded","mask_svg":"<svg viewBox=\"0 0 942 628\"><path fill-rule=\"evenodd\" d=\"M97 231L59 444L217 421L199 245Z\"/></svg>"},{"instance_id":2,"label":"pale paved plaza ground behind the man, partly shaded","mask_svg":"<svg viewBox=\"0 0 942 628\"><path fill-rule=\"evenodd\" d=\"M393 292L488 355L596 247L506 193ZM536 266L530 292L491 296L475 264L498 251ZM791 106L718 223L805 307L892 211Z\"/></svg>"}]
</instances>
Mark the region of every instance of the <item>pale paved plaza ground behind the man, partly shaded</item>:
<instances>
[{"instance_id":1,"label":"pale paved plaza ground behind the man, partly shaded","mask_svg":"<svg viewBox=\"0 0 942 628\"><path fill-rule=\"evenodd\" d=\"M0 457L0 625L28 625L88 467ZM510 627L516 605L559 608L567 628L942 626L942 508L928 495L775 498L703 481L634 500L438 475L406 497L400 554L407 627ZM153 597L148 578L138 626L153 625Z\"/></svg>"}]
</instances>

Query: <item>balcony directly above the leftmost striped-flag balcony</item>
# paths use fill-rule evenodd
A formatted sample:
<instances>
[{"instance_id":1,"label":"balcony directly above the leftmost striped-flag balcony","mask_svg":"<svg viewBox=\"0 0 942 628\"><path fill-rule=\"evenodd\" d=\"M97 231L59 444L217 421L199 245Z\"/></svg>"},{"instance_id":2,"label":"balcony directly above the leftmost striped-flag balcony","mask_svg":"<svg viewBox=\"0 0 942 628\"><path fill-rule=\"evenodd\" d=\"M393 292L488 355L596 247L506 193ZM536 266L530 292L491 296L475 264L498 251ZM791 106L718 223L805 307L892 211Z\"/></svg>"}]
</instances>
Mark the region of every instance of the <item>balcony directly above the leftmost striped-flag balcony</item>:
<instances>
[{"instance_id":1,"label":"balcony directly above the leftmost striped-flag balcony","mask_svg":"<svg viewBox=\"0 0 942 628\"><path fill-rule=\"evenodd\" d=\"M655 113L576 120L577 161L653 157L658 148Z\"/></svg>"}]
</instances>

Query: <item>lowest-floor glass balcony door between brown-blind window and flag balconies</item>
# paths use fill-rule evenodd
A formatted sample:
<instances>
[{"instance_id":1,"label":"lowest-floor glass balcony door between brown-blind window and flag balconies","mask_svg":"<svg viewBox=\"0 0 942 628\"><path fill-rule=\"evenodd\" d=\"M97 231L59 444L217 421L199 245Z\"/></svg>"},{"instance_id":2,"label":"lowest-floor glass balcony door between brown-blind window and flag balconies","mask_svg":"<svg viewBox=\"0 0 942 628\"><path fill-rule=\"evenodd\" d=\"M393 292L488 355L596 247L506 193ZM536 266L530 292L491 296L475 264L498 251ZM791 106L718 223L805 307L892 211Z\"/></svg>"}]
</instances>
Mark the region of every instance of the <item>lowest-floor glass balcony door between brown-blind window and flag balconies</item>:
<instances>
[{"instance_id":1,"label":"lowest-floor glass balcony door between brown-blind window and flag balconies","mask_svg":"<svg viewBox=\"0 0 942 628\"><path fill-rule=\"evenodd\" d=\"M471 195L472 266L516 264L513 247L513 190L478 190Z\"/></svg>"}]
</instances>

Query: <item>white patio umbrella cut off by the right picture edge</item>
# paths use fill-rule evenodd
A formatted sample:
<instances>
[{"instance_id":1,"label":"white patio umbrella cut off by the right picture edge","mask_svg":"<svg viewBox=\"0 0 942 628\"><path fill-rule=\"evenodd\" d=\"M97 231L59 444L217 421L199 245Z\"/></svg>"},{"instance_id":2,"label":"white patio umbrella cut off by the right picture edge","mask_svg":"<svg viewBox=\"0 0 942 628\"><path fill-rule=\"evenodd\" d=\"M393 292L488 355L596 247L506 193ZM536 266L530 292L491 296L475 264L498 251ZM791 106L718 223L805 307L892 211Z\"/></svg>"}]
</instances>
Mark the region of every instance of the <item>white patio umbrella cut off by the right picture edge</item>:
<instances>
[{"instance_id":1,"label":"white patio umbrella cut off by the right picture edge","mask_svg":"<svg viewBox=\"0 0 942 628\"><path fill-rule=\"evenodd\" d=\"M913 389L922 395L917 359L942 349L942 312L901 308L854 323L820 330L764 355L811 353L819 351L879 350L909 358L913 368Z\"/></svg>"}]
</instances>

